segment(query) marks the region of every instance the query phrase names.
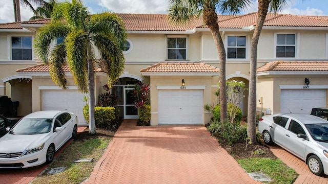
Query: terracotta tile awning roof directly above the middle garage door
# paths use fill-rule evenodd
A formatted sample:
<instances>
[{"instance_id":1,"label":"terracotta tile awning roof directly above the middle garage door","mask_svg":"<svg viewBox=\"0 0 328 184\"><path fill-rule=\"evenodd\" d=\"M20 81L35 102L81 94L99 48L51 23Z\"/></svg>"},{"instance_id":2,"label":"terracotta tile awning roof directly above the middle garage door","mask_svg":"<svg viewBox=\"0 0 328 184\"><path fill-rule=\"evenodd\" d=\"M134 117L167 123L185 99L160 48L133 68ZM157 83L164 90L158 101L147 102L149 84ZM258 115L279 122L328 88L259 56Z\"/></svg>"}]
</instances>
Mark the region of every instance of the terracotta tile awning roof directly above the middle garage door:
<instances>
[{"instance_id":1,"label":"terracotta tile awning roof directly above the middle garage door","mask_svg":"<svg viewBox=\"0 0 328 184\"><path fill-rule=\"evenodd\" d=\"M206 72L215 73L219 72L219 68L204 63L156 63L140 70L140 72Z\"/></svg>"}]
</instances>

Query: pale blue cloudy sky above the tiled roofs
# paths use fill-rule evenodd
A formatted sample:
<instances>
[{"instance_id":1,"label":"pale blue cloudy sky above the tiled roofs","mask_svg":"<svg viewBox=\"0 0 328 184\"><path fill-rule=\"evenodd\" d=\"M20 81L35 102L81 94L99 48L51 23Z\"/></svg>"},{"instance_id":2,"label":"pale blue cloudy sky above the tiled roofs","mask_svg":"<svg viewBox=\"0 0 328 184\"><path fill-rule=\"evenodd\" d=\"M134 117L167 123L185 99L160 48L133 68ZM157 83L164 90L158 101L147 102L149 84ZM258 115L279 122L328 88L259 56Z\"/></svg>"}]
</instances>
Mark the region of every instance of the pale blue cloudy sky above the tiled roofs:
<instances>
[{"instance_id":1,"label":"pale blue cloudy sky above the tiled roofs","mask_svg":"<svg viewBox=\"0 0 328 184\"><path fill-rule=\"evenodd\" d=\"M58 0L64 2L65 0ZM327 0L287 0L281 13L293 15L328 15ZM84 0L90 13L111 11L115 13L167 14L168 0ZM257 1L244 13L256 12ZM22 20L28 20L33 13L20 7ZM0 23L13 22L13 0L0 0Z\"/></svg>"}]
</instances>

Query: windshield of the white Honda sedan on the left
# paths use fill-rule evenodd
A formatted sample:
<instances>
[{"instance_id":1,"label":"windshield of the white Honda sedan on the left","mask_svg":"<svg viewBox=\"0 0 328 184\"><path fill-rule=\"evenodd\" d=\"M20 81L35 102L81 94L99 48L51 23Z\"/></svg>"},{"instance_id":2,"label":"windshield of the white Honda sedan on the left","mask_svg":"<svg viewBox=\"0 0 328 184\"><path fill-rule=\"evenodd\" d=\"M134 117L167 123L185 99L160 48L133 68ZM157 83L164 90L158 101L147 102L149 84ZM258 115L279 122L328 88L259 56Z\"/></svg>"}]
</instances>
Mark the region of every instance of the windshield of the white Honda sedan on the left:
<instances>
[{"instance_id":1,"label":"windshield of the white Honda sedan on the left","mask_svg":"<svg viewBox=\"0 0 328 184\"><path fill-rule=\"evenodd\" d=\"M40 134L48 133L51 128L52 119L22 119L14 126L9 133L11 134Z\"/></svg>"}]
</instances>

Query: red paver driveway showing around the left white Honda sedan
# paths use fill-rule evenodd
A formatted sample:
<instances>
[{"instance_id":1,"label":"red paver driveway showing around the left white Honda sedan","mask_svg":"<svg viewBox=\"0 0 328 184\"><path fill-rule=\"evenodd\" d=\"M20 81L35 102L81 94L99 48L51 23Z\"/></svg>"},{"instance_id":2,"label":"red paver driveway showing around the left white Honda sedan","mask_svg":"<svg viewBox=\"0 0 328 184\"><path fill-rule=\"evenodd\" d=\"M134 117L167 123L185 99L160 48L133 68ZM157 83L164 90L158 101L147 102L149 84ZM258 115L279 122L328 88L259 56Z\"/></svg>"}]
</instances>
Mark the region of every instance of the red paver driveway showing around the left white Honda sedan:
<instances>
[{"instance_id":1,"label":"red paver driveway showing around the left white Honda sedan","mask_svg":"<svg viewBox=\"0 0 328 184\"><path fill-rule=\"evenodd\" d=\"M82 132L86 127L77 127L77 132ZM69 140L55 154L55 157L63 151L73 140ZM0 170L0 184L20 183L27 184L40 174L48 165L41 165L26 169L6 169Z\"/></svg>"}]
</instances>

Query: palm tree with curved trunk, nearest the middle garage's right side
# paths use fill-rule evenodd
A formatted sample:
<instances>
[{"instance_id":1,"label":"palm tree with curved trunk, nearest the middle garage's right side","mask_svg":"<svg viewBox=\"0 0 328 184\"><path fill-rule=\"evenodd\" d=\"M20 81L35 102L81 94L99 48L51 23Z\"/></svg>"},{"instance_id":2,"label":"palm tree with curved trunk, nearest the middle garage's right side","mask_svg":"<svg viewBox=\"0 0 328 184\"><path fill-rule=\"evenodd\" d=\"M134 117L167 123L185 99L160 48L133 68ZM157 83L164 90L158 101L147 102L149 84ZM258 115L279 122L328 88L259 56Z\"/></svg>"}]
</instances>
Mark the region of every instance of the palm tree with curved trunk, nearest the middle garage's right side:
<instances>
[{"instance_id":1,"label":"palm tree with curved trunk, nearest the middle garage's right side","mask_svg":"<svg viewBox=\"0 0 328 184\"><path fill-rule=\"evenodd\" d=\"M186 23L195 16L202 15L214 38L219 54L220 68L220 115L221 121L228 118L226 87L226 50L219 32L217 11L222 14L236 15L249 5L251 0L170 0L169 18L176 23Z\"/></svg>"}]
</instances>

